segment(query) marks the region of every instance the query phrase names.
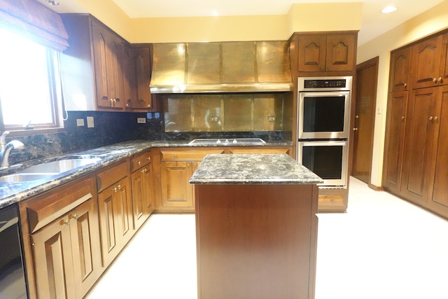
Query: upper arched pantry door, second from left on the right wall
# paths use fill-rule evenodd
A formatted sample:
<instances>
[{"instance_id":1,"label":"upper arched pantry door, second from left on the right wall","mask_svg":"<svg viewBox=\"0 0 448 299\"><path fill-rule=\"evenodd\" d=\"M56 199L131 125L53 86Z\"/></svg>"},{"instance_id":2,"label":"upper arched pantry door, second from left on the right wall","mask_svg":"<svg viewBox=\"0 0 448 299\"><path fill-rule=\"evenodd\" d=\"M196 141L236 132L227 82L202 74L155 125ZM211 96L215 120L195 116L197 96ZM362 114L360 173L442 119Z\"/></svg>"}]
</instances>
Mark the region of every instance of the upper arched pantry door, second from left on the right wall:
<instances>
[{"instance_id":1,"label":"upper arched pantry door, second from left on the right wall","mask_svg":"<svg viewBox=\"0 0 448 299\"><path fill-rule=\"evenodd\" d=\"M440 55L442 36L422 41L412 46L412 88L438 85L440 77Z\"/></svg>"}]
</instances>

